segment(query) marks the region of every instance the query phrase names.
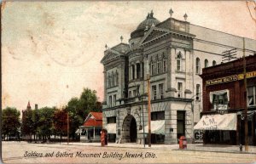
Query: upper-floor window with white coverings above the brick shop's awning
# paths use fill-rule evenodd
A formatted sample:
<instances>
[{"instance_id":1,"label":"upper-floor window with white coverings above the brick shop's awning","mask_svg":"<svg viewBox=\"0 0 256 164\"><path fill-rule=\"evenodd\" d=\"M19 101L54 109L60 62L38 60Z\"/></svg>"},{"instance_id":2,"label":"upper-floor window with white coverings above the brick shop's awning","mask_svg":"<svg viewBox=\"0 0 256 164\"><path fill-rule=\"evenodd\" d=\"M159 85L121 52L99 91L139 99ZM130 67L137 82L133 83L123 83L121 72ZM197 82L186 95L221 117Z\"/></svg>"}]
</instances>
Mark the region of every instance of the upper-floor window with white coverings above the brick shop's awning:
<instances>
[{"instance_id":1,"label":"upper-floor window with white coverings above the brick shop's awning","mask_svg":"<svg viewBox=\"0 0 256 164\"><path fill-rule=\"evenodd\" d=\"M229 90L210 92L210 102L213 110L227 110L230 99Z\"/></svg>"}]
</instances>

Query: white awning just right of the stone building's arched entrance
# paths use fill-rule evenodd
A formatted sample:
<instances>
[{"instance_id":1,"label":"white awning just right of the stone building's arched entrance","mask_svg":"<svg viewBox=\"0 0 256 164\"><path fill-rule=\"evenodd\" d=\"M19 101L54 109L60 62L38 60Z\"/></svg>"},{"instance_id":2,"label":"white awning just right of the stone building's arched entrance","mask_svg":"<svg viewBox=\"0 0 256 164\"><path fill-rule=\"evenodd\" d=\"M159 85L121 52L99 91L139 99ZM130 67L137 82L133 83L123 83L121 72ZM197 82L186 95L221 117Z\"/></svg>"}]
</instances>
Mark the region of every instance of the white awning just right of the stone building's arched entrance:
<instances>
[{"instance_id":1,"label":"white awning just right of the stone building's arched entrance","mask_svg":"<svg viewBox=\"0 0 256 164\"><path fill-rule=\"evenodd\" d=\"M151 127L151 133L165 135L165 121L164 120L151 121L150 127ZM143 133L143 129L140 130L139 133ZM145 133L148 133L148 125L145 126Z\"/></svg>"}]
</instances>

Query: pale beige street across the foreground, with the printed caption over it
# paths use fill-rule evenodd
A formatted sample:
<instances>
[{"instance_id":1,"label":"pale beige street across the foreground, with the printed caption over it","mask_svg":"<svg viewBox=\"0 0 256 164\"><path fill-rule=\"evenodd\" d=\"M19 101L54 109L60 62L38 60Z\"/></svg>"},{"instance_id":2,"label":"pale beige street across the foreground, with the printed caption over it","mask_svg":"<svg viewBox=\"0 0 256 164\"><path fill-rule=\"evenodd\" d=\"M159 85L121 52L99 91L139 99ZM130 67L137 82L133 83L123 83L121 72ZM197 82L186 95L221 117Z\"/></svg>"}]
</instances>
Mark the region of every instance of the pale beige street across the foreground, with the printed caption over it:
<instances>
[{"instance_id":1,"label":"pale beige street across the foreground, with the printed caption over it","mask_svg":"<svg viewBox=\"0 0 256 164\"><path fill-rule=\"evenodd\" d=\"M27 144L2 142L4 163L246 163L256 161L255 147L249 153L239 153L236 146L227 148L188 145L188 150L178 150L178 145L153 144L143 148L137 144L55 143Z\"/></svg>"}]
</instances>

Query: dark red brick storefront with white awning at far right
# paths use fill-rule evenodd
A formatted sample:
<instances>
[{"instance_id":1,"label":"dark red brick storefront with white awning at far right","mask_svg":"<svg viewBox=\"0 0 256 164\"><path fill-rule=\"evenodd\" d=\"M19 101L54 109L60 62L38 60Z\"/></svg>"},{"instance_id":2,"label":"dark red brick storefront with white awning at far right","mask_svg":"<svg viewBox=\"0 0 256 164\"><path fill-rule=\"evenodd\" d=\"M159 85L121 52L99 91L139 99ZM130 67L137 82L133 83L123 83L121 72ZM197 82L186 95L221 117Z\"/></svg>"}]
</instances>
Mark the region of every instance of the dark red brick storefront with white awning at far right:
<instances>
[{"instance_id":1,"label":"dark red brick storefront with white awning at far right","mask_svg":"<svg viewBox=\"0 0 256 164\"><path fill-rule=\"evenodd\" d=\"M256 145L256 54L245 59L246 90L243 59L202 71L203 111L195 128L205 131L205 144L245 144L247 115L248 141Z\"/></svg>"}]
</instances>

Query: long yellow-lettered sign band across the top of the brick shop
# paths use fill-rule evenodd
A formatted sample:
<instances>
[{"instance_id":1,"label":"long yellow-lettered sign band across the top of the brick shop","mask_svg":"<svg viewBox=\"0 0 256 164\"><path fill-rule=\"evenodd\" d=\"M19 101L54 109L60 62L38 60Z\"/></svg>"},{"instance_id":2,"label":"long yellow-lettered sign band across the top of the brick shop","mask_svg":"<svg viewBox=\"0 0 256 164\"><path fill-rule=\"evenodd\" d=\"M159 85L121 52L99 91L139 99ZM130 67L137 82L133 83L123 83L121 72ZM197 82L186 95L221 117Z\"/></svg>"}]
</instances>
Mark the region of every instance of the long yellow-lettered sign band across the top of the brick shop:
<instances>
[{"instance_id":1,"label":"long yellow-lettered sign band across the top of the brick shop","mask_svg":"<svg viewBox=\"0 0 256 164\"><path fill-rule=\"evenodd\" d=\"M251 71L246 73L247 78L252 78L255 76L256 76L256 71ZM233 75L233 76L224 76L218 79L208 80L206 84L207 86L209 86L209 85L216 85L216 84L225 83L225 82L234 82L242 79L243 79L243 74Z\"/></svg>"}]
</instances>

